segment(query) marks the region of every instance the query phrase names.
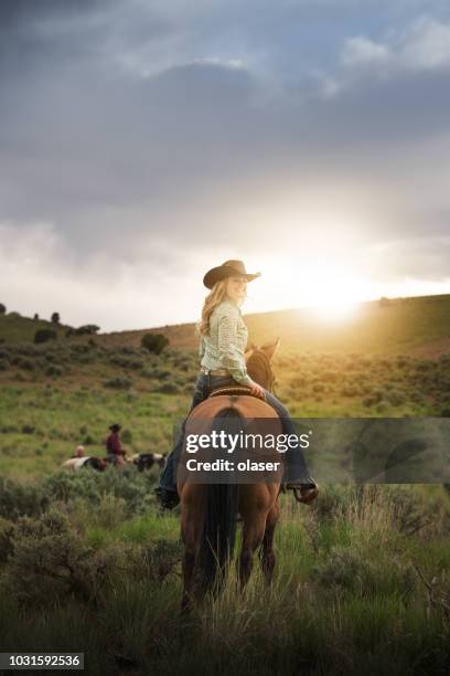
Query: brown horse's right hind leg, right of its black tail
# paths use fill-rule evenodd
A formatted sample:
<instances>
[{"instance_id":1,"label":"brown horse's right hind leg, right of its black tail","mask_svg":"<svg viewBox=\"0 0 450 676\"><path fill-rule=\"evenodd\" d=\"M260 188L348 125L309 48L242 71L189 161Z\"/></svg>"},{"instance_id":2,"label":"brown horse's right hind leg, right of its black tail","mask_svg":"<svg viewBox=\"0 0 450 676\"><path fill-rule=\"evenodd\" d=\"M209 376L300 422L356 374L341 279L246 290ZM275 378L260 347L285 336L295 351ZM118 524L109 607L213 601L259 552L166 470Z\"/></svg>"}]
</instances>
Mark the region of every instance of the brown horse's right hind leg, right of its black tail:
<instances>
[{"instance_id":1,"label":"brown horse's right hind leg, right of its black tail","mask_svg":"<svg viewBox=\"0 0 450 676\"><path fill-rule=\"evenodd\" d=\"M239 513L243 517L243 545L238 574L240 588L244 589L251 574L254 553L264 538L271 500L267 487L260 484L246 486L245 490L242 489L242 494L244 495L242 505L239 500Z\"/></svg>"}]
</instances>

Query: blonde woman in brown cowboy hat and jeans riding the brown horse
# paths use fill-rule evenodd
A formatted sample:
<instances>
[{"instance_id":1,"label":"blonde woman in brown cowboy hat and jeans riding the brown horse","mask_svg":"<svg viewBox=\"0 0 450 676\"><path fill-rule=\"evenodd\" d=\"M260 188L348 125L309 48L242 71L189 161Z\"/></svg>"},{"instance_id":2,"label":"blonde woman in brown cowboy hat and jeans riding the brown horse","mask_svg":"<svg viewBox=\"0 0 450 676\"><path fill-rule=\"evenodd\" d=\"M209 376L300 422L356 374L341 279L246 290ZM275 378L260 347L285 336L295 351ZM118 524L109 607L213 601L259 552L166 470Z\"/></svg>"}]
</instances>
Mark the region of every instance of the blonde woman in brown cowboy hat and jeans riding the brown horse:
<instances>
[{"instance_id":1,"label":"blonde woman in brown cowboy hat and jeans riding the brown horse","mask_svg":"<svg viewBox=\"0 0 450 676\"><path fill-rule=\"evenodd\" d=\"M259 275L260 273L247 274L242 261L226 261L205 274L203 284L211 293L205 298L202 319L199 323L201 372L195 384L191 411L217 388L245 385L253 395L264 399L277 411L285 434L297 435L286 406L268 389L251 380L247 372L245 349L248 330L242 317L240 305L246 299L247 282ZM176 463L183 447L185 423L186 420L174 448L168 456L156 490L161 506L167 509L180 501L176 492ZM313 500L318 495L318 486L309 475L300 445L287 451L286 466L289 467L287 488L300 489L303 503Z\"/></svg>"}]
</instances>

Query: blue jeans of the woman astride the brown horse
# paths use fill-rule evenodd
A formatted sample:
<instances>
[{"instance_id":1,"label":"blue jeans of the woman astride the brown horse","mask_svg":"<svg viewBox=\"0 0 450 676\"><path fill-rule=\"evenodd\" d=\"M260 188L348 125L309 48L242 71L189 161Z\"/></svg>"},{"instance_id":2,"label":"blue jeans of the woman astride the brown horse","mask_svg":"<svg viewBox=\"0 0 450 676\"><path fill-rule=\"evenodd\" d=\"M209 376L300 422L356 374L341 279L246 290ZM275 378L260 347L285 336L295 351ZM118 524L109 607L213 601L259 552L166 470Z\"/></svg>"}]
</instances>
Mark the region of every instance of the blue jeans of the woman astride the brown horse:
<instances>
[{"instance_id":1,"label":"blue jeans of the woman astride the brown horse","mask_svg":"<svg viewBox=\"0 0 450 676\"><path fill-rule=\"evenodd\" d=\"M200 373L195 383L194 395L189 413L191 413L191 411L202 401L207 399L210 393L216 388L237 384L239 383L236 382L236 380L234 380L234 378L231 376L206 376L206 373ZM275 397L275 394L268 390L265 390L265 393L266 402L270 404L280 416L283 434L298 435L296 425L293 424L287 408L280 402L279 399ZM183 448L184 429L189 413L181 425L175 444L168 456L168 460L165 461L165 466L160 476L160 487L168 490L176 490L176 463ZM294 483L308 483L311 480L307 462L300 445L298 445L297 448L288 448L286 452L286 466L289 467L289 476L287 476L287 473L285 472L283 482L289 480Z\"/></svg>"}]
</instances>

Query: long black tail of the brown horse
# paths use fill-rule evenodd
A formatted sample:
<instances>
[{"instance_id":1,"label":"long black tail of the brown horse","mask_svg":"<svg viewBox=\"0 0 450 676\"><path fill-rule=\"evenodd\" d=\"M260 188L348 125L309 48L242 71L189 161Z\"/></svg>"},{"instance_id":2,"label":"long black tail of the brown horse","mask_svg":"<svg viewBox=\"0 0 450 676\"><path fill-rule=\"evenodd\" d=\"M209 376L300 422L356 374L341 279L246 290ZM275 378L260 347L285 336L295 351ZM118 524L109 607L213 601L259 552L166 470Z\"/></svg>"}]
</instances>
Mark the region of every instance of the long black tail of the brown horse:
<instances>
[{"instance_id":1,"label":"long black tail of the brown horse","mask_svg":"<svg viewBox=\"0 0 450 676\"><path fill-rule=\"evenodd\" d=\"M222 419L226 419L227 433L234 434L242 429L243 420L236 409L224 409L217 418L212 430L224 429L225 421L219 422ZM205 488L205 514L199 552L201 582L205 591L218 591L225 581L235 546L238 487L235 482L231 482L208 484Z\"/></svg>"}]
</instances>

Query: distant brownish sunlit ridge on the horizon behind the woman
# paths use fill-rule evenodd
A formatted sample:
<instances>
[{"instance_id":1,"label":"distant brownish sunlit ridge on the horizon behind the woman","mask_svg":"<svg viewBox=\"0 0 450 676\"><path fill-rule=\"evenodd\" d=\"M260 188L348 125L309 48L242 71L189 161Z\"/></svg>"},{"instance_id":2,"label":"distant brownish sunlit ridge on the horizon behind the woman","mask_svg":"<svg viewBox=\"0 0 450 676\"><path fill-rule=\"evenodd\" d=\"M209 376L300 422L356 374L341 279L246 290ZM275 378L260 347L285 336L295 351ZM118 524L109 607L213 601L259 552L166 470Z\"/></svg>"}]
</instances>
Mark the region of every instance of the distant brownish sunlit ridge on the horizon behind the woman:
<instances>
[{"instance_id":1,"label":"distant brownish sunlit ridge on the horizon behind the woman","mask_svg":"<svg viewBox=\"0 0 450 676\"><path fill-rule=\"evenodd\" d=\"M291 352L420 353L450 351L450 295L393 299L387 305L363 303L349 317L319 318L310 309L244 315L250 340L257 345L281 338ZM194 324L101 335L104 345L138 347L143 334L164 334L173 347L195 349Z\"/></svg>"}]
</instances>

